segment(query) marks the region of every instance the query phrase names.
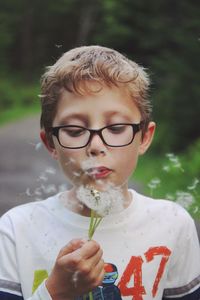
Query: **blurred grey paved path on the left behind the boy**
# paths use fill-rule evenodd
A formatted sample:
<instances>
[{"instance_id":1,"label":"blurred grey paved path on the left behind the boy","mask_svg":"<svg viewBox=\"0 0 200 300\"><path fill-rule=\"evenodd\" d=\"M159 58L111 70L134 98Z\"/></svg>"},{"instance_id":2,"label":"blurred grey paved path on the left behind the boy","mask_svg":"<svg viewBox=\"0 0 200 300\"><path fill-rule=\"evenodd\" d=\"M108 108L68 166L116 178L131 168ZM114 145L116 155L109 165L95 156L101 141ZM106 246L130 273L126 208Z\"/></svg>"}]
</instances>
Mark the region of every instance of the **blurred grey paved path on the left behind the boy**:
<instances>
[{"instance_id":1,"label":"blurred grey paved path on the left behind the boy","mask_svg":"<svg viewBox=\"0 0 200 300\"><path fill-rule=\"evenodd\" d=\"M46 198L66 182L40 143L39 116L0 127L0 215Z\"/></svg>"}]
</instances>

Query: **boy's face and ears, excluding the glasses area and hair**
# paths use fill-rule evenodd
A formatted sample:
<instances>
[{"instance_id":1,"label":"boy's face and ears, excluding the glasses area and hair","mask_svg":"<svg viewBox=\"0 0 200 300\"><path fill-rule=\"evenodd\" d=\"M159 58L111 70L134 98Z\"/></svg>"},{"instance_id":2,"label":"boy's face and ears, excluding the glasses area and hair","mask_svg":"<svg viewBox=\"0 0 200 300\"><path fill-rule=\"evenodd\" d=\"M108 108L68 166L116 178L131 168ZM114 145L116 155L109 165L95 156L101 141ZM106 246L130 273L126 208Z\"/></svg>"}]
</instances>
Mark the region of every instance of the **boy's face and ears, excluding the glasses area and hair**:
<instances>
[{"instance_id":1,"label":"boy's face and ears, excluding the glasses area and hair","mask_svg":"<svg viewBox=\"0 0 200 300\"><path fill-rule=\"evenodd\" d=\"M97 88L93 83L92 87ZM58 102L53 126L76 125L100 129L116 123L140 123L141 114L124 89L103 87L99 92L75 95L64 91ZM133 142L124 147L110 147L96 134L91 142L81 149L66 149L53 136L54 147L49 146L45 133L41 137L63 169L64 174L78 187L82 184L101 190L108 185L127 189L129 176L135 170L137 159L150 145L154 123L147 133L136 133Z\"/></svg>"}]
</instances>

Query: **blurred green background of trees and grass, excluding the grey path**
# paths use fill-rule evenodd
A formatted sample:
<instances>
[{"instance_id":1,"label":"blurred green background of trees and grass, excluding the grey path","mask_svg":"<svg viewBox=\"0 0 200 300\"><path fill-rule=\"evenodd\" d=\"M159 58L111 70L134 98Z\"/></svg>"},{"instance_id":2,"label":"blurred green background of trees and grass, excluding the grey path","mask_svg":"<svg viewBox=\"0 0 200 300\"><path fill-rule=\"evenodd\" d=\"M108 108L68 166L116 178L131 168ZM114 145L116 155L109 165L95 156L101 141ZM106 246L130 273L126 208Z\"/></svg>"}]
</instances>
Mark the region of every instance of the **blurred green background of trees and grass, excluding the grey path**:
<instances>
[{"instance_id":1,"label":"blurred green background of trees and grass, excluding the grey path","mask_svg":"<svg viewBox=\"0 0 200 300\"><path fill-rule=\"evenodd\" d=\"M115 48L152 79L157 132L134 180L156 197L194 198L199 216L199 29L195 0L1 1L0 125L39 112L40 76L63 52Z\"/></svg>"}]
</instances>

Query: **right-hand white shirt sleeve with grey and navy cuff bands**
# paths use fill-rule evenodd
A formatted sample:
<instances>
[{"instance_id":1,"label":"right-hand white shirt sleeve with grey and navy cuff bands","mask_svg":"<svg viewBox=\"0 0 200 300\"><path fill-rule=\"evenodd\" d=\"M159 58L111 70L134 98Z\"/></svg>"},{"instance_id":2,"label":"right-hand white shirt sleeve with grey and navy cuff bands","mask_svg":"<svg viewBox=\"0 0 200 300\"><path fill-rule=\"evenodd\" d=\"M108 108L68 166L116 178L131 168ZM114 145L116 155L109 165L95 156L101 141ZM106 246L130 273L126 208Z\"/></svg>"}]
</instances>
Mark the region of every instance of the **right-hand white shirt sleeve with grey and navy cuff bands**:
<instances>
[{"instance_id":1,"label":"right-hand white shirt sleeve with grey and navy cuff bands","mask_svg":"<svg viewBox=\"0 0 200 300\"><path fill-rule=\"evenodd\" d=\"M180 221L183 226L170 262L164 299L200 299L200 246L196 227L187 213ZM192 293L197 298L187 298Z\"/></svg>"}]
</instances>

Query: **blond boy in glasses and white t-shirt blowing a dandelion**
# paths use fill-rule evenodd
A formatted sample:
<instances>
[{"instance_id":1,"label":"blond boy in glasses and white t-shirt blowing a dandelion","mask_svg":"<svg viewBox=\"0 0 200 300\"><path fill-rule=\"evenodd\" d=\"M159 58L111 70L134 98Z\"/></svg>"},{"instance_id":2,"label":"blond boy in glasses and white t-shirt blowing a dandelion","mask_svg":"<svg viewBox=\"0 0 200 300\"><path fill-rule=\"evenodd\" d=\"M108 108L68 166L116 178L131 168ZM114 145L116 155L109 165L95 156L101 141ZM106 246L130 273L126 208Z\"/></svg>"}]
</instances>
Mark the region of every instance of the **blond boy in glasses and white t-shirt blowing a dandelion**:
<instances>
[{"instance_id":1,"label":"blond boy in glasses and white t-shirt blowing a dandelion","mask_svg":"<svg viewBox=\"0 0 200 300\"><path fill-rule=\"evenodd\" d=\"M148 86L142 67L100 46L73 49L48 68L41 139L72 188L1 218L0 299L200 299L193 220L128 189L155 130ZM95 241L90 194L107 212Z\"/></svg>"}]
</instances>

